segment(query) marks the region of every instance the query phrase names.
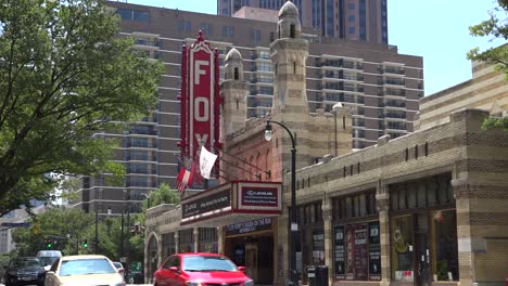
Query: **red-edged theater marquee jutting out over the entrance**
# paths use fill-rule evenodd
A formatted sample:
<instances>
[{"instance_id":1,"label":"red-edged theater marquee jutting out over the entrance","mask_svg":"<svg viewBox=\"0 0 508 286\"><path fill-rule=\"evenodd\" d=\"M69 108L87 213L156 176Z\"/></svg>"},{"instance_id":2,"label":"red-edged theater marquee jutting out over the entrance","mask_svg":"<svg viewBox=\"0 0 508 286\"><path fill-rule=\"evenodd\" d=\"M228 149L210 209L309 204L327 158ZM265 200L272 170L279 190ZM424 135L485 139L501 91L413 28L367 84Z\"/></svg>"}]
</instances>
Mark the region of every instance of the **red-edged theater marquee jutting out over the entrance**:
<instances>
[{"instance_id":1,"label":"red-edged theater marquee jutting out over the entrance","mask_svg":"<svg viewBox=\"0 0 508 286\"><path fill-rule=\"evenodd\" d=\"M281 183L232 181L186 197L181 225L213 227L278 216Z\"/></svg>"}]
</instances>

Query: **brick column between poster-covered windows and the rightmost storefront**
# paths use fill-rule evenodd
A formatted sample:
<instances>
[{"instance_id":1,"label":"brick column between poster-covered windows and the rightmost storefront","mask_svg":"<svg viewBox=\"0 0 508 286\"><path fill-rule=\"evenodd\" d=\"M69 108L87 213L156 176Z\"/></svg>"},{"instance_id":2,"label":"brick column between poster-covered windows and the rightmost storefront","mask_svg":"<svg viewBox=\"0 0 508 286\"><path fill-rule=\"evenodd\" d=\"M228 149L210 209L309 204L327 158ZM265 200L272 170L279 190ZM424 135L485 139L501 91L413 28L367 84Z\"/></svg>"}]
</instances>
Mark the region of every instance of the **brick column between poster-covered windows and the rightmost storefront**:
<instances>
[{"instance_id":1,"label":"brick column between poster-covered windows and the rightmost storefront","mask_svg":"<svg viewBox=\"0 0 508 286\"><path fill-rule=\"evenodd\" d=\"M376 203L379 211L379 231L381 245L381 284L390 285L392 270L390 264L390 193L388 185L381 181L378 183Z\"/></svg>"}]
</instances>

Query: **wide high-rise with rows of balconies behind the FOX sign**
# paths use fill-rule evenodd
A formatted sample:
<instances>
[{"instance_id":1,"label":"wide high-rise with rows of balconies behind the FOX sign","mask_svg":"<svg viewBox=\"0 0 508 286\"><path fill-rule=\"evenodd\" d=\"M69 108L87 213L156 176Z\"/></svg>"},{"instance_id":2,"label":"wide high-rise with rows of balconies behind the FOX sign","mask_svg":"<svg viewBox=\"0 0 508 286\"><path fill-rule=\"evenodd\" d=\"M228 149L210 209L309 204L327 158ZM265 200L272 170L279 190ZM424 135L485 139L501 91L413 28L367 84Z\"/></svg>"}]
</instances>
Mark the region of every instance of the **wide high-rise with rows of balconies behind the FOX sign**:
<instances>
[{"instance_id":1,"label":"wide high-rise with rows of balconies behind the FOX sign","mask_svg":"<svg viewBox=\"0 0 508 286\"><path fill-rule=\"evenodd\" d=\"M115 160L126 166L122 186L109 186L104 177L82 178L81 200L87 211L113 213L140 206L150 190L162 182L175 187L180 140L181 50L202 30L219 51L220 78L227 52L236 48L243 60L249 83L246 117L263 117L271 110L274 72L270 44L277 38L272 22L231 18L202 13L110 1L122 17L120 36L134 37L135 49L165 63L158 87L157 109L122 134L106 131L97 136L119 138L123 145ZM353 148L377 144L412 131L418 102L423 96L422 57L404 55L396 47L343 41L302 28L309 41L306 58L306 94L309 112L332 110L341 102L352 110ZM245 118L245 119L247 119Z\"/></svg>"}]
</instances>

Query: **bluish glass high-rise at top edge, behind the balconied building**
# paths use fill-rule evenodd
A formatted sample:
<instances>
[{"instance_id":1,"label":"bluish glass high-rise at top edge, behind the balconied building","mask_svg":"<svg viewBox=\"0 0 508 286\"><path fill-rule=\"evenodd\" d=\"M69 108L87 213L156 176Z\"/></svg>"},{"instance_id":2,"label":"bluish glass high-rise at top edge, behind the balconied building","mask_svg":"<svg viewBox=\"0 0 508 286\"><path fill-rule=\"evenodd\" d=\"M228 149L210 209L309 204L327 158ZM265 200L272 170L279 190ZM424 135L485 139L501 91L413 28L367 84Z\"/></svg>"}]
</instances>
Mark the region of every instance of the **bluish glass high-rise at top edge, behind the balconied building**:
<instances>
[{"instance_id":1,"label":"bluish glass high-rise at top edge, behind the balconied building","mask_svg":"<svg viewBox=\"0 0 508 286\"><path fill-rule=\"evenodd\" d=\"M217 0L217 15L233 16L245 8L279 10L285 0ZM321 36L389 43L388 0L293 0L302 26Z\"/></svg>"}]
</instances>

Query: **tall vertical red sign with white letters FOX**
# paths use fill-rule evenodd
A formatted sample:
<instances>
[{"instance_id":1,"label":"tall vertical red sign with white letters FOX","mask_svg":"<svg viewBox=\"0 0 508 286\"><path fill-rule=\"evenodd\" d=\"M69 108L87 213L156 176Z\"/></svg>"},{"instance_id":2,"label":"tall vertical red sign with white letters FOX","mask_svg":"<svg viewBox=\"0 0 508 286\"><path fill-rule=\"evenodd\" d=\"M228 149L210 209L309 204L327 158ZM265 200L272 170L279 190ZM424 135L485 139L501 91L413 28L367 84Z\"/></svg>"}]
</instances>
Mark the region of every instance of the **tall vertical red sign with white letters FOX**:
<instances>
[{"instance_id":1,"label":"tall vertical red sign with white letters FOX","mask_svg":"<svg viewBox=\"0 0 508 286\"><path fill-rule=\"evenodd\" d=\"M220 148L217 49L212 50L200 30L190 47L181 53L181 129L178 143L181 155L194 158L202 145Z\"/></svg>"}]
</instances>

